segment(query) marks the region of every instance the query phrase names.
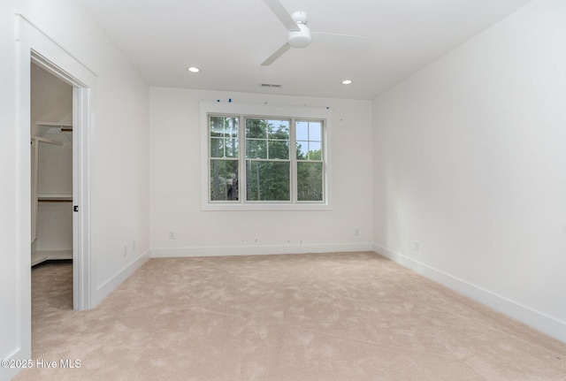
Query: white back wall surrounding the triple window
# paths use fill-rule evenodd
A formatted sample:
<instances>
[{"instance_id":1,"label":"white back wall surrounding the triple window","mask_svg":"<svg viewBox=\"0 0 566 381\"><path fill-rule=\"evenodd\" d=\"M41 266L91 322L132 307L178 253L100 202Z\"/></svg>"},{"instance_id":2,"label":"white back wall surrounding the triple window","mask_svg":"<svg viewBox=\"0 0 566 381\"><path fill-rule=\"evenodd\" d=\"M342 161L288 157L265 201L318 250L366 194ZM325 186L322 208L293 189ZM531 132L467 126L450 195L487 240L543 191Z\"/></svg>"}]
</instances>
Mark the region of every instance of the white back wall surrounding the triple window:
<instances>
[{"instance_id":1,"label":"white back wall surrounding the triple window","mask_svg":"<svg viewBox=\"0 0 566 381\"><path fill-rule=\"evenodd\" d=\"M331 108L333 210L201 210L199 102L228 98ZM151 88L150 107L152 255L371 249L371 102Z\"/></svg>"}]
</instances>

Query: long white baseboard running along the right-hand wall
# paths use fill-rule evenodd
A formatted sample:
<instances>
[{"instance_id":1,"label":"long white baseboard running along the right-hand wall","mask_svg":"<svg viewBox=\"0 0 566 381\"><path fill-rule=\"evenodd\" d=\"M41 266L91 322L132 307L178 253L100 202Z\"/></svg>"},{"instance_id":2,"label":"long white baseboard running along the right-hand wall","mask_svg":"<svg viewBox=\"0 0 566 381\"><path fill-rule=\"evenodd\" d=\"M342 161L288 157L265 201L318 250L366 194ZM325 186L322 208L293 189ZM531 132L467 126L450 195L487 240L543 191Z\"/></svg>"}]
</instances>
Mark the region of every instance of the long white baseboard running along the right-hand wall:
<instances>
[{"instance_id":1,"label":"long white baseboard running along the right-hand wall","mask_svg":"<svg viewBox=\"0 0 566 381\"><path fill-rule=\"evenodd\" d=\"M510 316L517 321L529 325L532 328L546 333L555 339L566 342L566 323L556 320L554 317L547 316L539 311L510 301L509 299L485 290L481 287L475 286L466 282L463 279L455 278L444 271L432 268L431 266L420 263L407 255L389 250L377 244L373 244L373 251L379 255L391 259L395 263L401 264L403 267L417 272L426 278L430 278L443 286L454 290L457 293L462 293L475 301L479 301L496 311Z\"/></svg>"}]
</instances>

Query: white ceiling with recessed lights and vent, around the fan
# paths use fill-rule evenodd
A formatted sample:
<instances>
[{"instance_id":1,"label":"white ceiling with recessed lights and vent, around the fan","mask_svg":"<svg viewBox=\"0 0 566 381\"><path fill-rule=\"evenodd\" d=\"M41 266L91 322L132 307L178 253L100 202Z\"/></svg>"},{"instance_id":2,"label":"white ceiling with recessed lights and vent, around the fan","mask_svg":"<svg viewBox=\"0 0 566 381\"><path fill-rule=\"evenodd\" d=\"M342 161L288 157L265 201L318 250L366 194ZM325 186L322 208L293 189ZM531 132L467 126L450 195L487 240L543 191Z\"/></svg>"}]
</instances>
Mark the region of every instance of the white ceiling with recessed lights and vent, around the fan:
<instances>
[{"instance_id":1,"label":"white ceiling with recessed lights and vent, around the fan","mask_svg":"<svg viewBox=\"0 0 566 381\"><path fill-rule=\"evenodd\" d=\"M372 99L531 0L280 0L287 11L306 11L313 31L370 43L313 38L266 67L287 29L264 0L76 1L149 86Z\"/></svg>"}]
</instances>

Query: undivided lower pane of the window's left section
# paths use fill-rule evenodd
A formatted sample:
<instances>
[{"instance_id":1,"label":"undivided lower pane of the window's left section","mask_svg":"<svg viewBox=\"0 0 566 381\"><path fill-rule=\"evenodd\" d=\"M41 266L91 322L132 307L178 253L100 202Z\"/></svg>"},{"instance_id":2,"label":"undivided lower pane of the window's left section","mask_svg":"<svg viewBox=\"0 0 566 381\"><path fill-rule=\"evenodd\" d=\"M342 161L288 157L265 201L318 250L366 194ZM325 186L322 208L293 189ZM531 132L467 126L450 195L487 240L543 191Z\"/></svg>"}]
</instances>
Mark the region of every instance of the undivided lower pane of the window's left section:
<instances>
[{"instance_id":1,"label":"undivided lower pane of the window's left section","mask_svg":"<svg viewBox=\"0 0 566 381\"><path fill-rule=\"evenodd\" d=\"M238 200L238 160L210 160L210 201Z\"/></svg>"}]
</instances>

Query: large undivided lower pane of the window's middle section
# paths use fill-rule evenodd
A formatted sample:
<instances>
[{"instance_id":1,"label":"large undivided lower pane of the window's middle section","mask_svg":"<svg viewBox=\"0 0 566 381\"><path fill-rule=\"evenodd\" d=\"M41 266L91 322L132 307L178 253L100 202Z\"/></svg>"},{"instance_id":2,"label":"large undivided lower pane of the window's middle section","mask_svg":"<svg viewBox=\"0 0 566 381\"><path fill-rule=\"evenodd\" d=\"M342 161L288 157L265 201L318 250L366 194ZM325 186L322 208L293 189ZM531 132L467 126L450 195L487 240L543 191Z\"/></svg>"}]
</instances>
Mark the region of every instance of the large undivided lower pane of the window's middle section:
<instances>
[{"instance_id":1,"label":"large undivided lower pane of the window's middle section","mask_svg":"<svg viewBox=\"0 0 566 381\"><path fill-rule=\"evenodd\" d=\"M248 201L290 201L289 162L246 161Z\"/></svg>"}]
</instances>

